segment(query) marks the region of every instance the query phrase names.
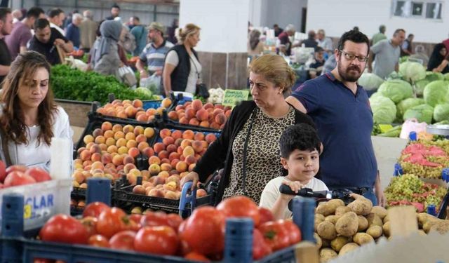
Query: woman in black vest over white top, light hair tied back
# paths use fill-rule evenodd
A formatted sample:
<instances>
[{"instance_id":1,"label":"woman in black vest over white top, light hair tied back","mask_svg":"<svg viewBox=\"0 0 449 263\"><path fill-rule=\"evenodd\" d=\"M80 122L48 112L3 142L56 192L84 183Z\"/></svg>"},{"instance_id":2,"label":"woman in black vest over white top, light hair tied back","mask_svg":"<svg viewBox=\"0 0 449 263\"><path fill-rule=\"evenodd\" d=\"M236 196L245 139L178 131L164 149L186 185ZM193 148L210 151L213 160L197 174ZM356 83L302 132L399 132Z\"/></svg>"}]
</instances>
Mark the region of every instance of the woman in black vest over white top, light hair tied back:
<instances>
[{"instance_id":1,"label":"woman in black vest over white top, light hair tied back","mask_svg":"<svg viewBox=\"0 0 449 263\"><path fill-rule=\"evenodd\" d=\"M192 94L196 92L196 84L201 76L201 64L194 50L199 42L199 30L194 24L178 29L178 44L168 50L163 65L163 93L167 96L172 90Z\"/></svg>"}]
</instances>

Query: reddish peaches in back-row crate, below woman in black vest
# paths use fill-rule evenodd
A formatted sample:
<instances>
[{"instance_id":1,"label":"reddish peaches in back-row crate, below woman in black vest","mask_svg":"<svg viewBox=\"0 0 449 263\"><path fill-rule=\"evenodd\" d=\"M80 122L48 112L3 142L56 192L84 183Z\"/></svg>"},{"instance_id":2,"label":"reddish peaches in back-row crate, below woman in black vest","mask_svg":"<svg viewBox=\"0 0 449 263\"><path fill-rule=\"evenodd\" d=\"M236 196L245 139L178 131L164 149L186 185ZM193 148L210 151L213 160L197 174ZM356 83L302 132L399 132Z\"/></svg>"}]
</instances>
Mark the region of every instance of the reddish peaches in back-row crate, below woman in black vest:
<instances>
[{"instance_id":1,"label":"reddish peaches in back-row crate, below woman in black vest","mask_svg":"<svg viewBox=\"0 0 449 263\"><path fill-rule=\"evenodd\" d=\"M222 129L232 108L210 102L203 104L201 100L185 102L177 105L174 110L168 112L168 118L179 121L182 124L201 126L205 128Z\"/></svg>"}]
</instances>

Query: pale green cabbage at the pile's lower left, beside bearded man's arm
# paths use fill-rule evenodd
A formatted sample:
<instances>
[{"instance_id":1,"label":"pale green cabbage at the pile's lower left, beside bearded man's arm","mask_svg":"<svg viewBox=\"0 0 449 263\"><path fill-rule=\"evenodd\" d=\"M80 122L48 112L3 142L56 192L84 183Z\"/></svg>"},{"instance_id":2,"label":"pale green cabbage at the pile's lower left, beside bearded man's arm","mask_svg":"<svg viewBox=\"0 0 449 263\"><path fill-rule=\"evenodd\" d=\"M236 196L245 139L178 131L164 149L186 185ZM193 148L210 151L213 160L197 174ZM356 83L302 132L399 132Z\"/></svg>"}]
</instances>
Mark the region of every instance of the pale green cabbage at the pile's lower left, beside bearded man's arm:
<instances>
[{"instance_id":1,"label":"pale green cabbage at the pile's lower left, beside bearded man's arm","mask_svg":"<svg viewBox=\"0 0 449 263\"><path fill-rule=\"evenodd\" d=\"M388 124L396 119L396 105L388 97L376 95L370 97L374 123Z\"/></svg>"}]
</instances>

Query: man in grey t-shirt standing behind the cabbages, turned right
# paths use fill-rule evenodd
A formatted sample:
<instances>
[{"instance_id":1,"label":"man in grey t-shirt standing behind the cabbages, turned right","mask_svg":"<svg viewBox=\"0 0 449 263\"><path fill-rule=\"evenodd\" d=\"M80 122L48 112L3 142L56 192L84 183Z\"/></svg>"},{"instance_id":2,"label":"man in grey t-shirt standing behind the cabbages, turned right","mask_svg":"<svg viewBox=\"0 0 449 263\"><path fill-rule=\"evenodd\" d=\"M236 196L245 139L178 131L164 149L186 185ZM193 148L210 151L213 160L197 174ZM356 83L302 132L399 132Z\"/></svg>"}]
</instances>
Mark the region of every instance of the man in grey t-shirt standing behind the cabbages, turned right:
<instances>
[{"instance_id":1,"label":"man in grey t-shirt standing behind the cabbages, turned right","mask_svg":"<svg viewBox=\"0 0 449 263\"><path fill-rule=\"evenodd\" d=\"M399 55L401 55L401 45L404 39L406 39L406 31L396 29L390 40L384 39L372 46L368 60L368 72L373 72L381 79L387 78L391 72L398 72ZM373 55L375 55L374 69Z\"/></svg>"}]
</instances>

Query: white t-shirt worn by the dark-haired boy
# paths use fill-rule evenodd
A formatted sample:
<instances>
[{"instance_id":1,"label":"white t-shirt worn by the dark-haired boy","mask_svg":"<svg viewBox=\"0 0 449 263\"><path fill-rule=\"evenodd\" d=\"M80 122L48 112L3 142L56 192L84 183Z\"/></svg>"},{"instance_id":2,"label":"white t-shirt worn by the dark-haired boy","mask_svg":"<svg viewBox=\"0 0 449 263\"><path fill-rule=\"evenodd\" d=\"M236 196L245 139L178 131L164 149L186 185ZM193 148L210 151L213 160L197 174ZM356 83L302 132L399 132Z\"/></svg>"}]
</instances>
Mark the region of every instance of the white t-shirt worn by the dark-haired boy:
<instances>
[{"instance_id":1,"label":"white t-shirt worn by the dark-haired boy","mask_svg":"<svg viewBox=\"0 0 449 263\"><path fill-rule=\"evenodd\" d=\"M265 186L264 191L262 191L262 196L260 196L260 204L259 206L263 208L268 208L271 210L274 206L274 203L276 203L277 198L281 194L279 191L279 187L281 187L281 184L283 181L288 181L285 176L279 176L271 181L268 182L268 184ZM308 184L305 185L305 188L310 188L314 191L327 191L329 190L328 187L326 187L326 184L323 183L323 181L316 179L315 177L312 178ZM293 213L286 208L283 212L283 218L287 219L293 216Z\"/></svg>"}]
</instances>

